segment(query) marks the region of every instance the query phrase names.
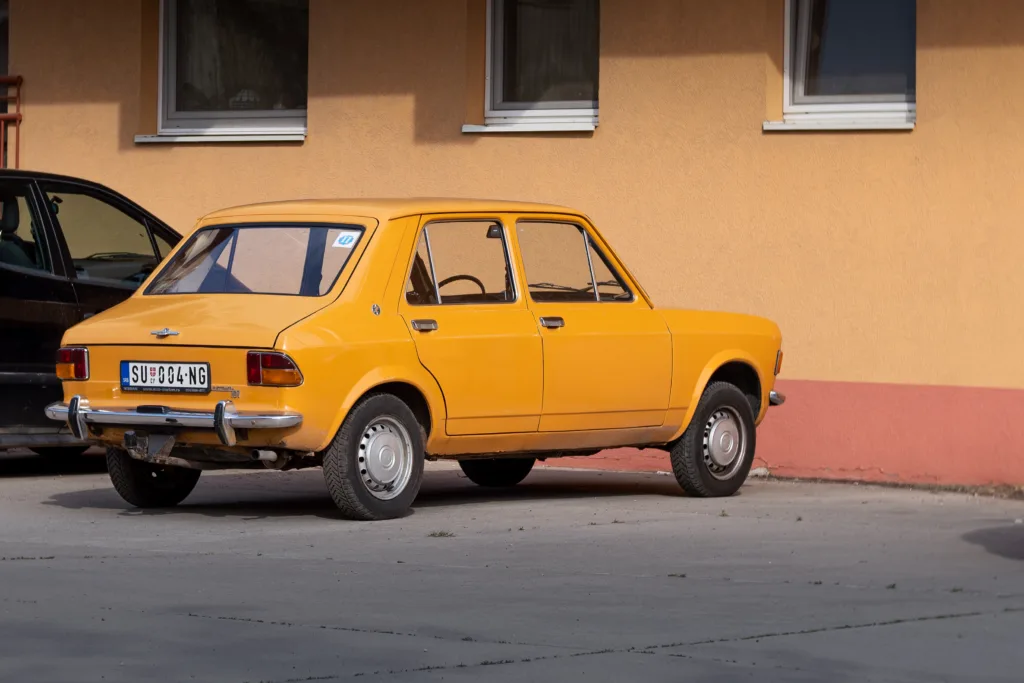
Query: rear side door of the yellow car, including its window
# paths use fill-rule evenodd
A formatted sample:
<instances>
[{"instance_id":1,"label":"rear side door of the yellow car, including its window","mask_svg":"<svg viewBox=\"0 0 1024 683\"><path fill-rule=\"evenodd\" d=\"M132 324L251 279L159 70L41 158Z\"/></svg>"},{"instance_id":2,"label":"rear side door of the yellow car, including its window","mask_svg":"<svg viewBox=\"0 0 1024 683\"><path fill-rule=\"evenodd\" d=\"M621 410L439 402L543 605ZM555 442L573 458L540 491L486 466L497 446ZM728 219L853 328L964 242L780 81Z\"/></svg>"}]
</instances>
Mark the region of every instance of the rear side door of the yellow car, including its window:
<instances>
[{"instance_id":1,"label":"rear side door of the yellow car, including its window","mask_svg":"<svg viewBox=\"0 0 1024 683\"><path fill-rule=\"evenodd\" d=\"M537 431L541 337L498 218L421 220L398 309L437 380L451 435Z\"/></svg>"}]
</instances>

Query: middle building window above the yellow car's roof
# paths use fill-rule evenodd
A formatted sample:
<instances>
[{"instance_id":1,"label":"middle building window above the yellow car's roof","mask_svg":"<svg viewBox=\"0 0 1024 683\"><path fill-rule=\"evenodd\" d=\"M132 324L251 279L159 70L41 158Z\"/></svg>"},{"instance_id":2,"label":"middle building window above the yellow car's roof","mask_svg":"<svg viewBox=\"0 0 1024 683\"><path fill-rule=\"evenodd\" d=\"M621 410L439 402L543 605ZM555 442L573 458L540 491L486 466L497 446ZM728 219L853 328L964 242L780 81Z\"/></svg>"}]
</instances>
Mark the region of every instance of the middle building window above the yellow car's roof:
<instances>
[{"instance_id":1,"label":"middle building window above the yellow car's roof","mask_svg":"<svg viewBox=\"0 0 1024 683\"><path fill-rule=\"evenodd\" d=\"M489 0L488 124L597 123L599 0Z\"/></svg>"}]
</instances>

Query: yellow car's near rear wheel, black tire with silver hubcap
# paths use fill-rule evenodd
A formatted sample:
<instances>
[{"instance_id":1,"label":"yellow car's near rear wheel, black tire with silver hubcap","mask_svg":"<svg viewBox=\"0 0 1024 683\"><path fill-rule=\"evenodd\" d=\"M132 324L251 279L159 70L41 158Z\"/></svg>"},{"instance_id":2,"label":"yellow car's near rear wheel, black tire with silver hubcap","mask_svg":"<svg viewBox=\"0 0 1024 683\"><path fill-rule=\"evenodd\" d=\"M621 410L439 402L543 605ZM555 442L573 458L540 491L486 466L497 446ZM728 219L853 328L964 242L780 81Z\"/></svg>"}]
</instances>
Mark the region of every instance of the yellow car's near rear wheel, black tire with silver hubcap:
<instances>
[{"instance_id":1,"label":"yellow car's near rear wheel, black tire with silver hubcap","mask_svg":"<svg viewBox=\"0 0 1024 683\"><path fill-rule=\"evenodd\" d=\"M425 433L413 411L389 393L349 412L324 454L324 480L349 519L394 519L409 511L423 481Z\"/></svg>"}]
</instances>

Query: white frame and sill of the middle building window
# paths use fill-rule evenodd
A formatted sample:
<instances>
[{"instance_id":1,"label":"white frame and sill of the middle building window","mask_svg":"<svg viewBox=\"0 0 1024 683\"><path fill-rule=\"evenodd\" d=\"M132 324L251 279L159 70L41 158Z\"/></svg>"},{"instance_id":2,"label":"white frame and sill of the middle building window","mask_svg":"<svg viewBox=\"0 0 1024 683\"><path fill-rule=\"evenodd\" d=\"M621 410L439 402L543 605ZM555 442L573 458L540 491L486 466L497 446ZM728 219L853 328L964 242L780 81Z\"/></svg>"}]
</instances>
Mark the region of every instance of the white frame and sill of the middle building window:
<instances>
[{"instance_id":1,"label":"white frame and sill of the middle building window","mask_svg":"<svg viewBox=\"0 0 1024 683\"><path fill-rule=\"evenodd\" d=\"M466 125L463 132L592 131L597 127L596 102L515 102L508 106L498 101L502 90L502 40L504 31L498 23L504 16L506 0L487 0L486 79L484 84L483 126ZM600 58L600 46L598 47Z\"/></svg>"}]
</instances>

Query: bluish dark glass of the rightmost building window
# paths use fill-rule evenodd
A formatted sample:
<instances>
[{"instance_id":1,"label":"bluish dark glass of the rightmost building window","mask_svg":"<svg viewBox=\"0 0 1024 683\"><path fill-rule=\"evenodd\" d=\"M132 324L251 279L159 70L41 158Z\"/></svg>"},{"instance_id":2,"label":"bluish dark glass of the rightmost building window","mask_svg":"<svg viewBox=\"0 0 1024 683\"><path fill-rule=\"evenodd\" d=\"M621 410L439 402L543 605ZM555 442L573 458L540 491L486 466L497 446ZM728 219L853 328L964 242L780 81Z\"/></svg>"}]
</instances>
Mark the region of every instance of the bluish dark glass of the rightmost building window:
<instances>
[{"instance_id":1,"label":"bluish dark glass of the rightmost building window","mask_svg":"<svg viewBox=\"0 0 1024 683\"><path fill-rule=\"evenodd\" d=\"M798 5L804 59L798 99L888 95L913 101L915 0L801 0Z\"/></svg>"}]
</instances>

